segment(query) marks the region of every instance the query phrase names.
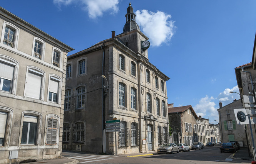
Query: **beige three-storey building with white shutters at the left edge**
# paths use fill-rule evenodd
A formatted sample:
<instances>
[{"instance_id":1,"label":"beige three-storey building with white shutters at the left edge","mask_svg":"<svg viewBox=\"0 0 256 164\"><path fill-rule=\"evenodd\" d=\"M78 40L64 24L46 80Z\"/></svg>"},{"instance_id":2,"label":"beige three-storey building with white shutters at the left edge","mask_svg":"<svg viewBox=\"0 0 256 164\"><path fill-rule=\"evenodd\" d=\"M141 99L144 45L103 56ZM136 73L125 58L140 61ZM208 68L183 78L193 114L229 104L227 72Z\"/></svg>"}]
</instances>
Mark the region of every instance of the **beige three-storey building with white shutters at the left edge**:
<instances>
[{"instance_id":1,"label":"beige three-storey building with white shutters at the left edge","mask_svg":"<svg viewBox=\"0 0 256 164\"><path fill-rule=\"evenodd\" d=\"M0 163L58 158L74 49L2 7L0 33Z\"/></svg>"}]
</instances>

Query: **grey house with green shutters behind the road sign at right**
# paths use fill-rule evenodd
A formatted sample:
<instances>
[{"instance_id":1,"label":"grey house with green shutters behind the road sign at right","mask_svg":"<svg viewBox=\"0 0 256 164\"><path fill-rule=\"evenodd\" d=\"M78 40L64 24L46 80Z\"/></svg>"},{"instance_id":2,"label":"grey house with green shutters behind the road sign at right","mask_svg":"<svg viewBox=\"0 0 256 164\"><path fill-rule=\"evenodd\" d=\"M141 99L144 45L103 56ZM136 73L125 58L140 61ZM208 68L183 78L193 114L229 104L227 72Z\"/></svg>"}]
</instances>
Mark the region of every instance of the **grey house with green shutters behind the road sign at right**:
<instances>
[{"instance_id":1,"label":"grey house with green shutters behind the road sign at right","mask_svg":"<svg viewBox=\"0 0 256 164\"><path fill-rule=\"evenodd\" d=\"M224 107L222 106L222 102L219 103L219 109L217 111L219 112L221 140L223 143L238 141L241 147L247 147L246 126L237 125L234 114L234 109L241 108L243 108L241 100L236 100Z\"/></svg>"}]
</instances>

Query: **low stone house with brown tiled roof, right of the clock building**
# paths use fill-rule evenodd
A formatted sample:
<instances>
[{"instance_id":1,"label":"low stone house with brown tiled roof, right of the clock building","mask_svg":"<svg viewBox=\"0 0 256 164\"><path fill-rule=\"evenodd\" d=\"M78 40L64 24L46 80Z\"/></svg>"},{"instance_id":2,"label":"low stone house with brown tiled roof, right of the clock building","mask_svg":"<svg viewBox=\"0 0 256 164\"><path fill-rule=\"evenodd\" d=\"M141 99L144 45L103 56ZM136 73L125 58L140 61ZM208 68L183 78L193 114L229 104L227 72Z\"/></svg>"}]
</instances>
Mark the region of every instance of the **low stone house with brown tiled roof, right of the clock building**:
<instances>
[{"instance_id":1,"label":"low stone house with brown tiled roof, right of the clock building","mask_svg":"<svg viewBox=\"0 0 256 164\"><path fill-rule=\"evenodd\" d=\"M189 146L198 141L197 115L191 105L183 107L169 107L168 117L173 129L172 139L174 143L185 143Z\"/></svg>"}]
</instances>

